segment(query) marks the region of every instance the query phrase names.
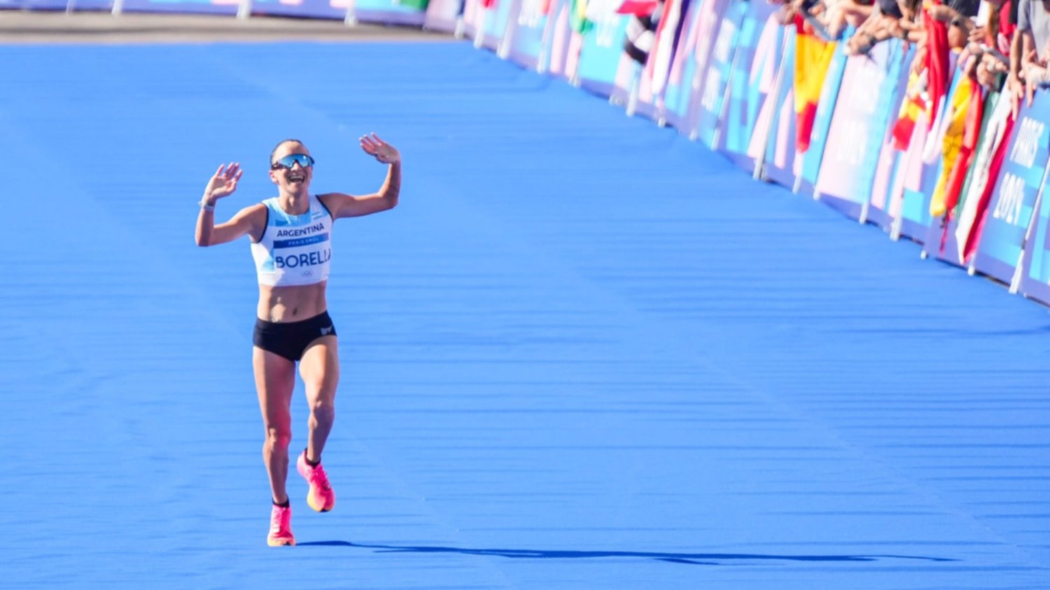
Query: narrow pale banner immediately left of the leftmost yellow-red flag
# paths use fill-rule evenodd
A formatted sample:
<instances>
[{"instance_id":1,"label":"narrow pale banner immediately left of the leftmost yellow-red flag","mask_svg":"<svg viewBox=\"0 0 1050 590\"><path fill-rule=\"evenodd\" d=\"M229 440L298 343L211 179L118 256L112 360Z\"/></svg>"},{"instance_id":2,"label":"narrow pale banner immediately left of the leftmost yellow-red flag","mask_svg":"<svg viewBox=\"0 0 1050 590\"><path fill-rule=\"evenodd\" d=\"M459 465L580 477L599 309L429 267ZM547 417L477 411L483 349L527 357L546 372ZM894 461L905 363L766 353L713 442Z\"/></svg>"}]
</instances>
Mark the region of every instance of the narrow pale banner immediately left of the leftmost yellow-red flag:
<instances>
[{"instance_id":1,"label":"narrow pale banner immediately left of the leftmost yellow-red flag","mask_svg":"<svg viewBox=\"0 0 1050 590\"><path fill-rule=\"evenodd\" d=\"M773 120L765 141L762 178L792 188L798 176L798 148L795 138L795 27L784 27L783 55L775 84L776 93L766 104L773 107Z\"/></svg>"}]
</instances>

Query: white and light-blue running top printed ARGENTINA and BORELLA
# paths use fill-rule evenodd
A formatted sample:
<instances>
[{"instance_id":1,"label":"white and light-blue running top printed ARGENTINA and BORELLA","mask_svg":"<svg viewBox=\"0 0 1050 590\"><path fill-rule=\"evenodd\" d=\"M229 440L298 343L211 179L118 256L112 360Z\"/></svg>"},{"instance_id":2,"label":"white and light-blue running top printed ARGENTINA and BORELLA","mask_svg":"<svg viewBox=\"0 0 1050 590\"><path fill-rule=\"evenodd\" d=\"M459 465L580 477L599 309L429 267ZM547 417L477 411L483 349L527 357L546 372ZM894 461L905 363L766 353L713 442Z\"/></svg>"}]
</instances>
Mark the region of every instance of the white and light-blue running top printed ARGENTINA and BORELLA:
<instances>
[{"instance_id":1,"label":"white and light-blue running top printed ARGENTINA and BORELLA","mask_svg":"<svg viewBox=\"0 0 1050 590\"><path fill-rule=\"evenodd\" d=\"M328 279L332 261L332 214L317 195L310 195L310 211L289 215L277 197L262 202L267 208L262 239L252 243L252 257L259 285L288 287L314 285Z\"/></svg>"}]
</instances>

